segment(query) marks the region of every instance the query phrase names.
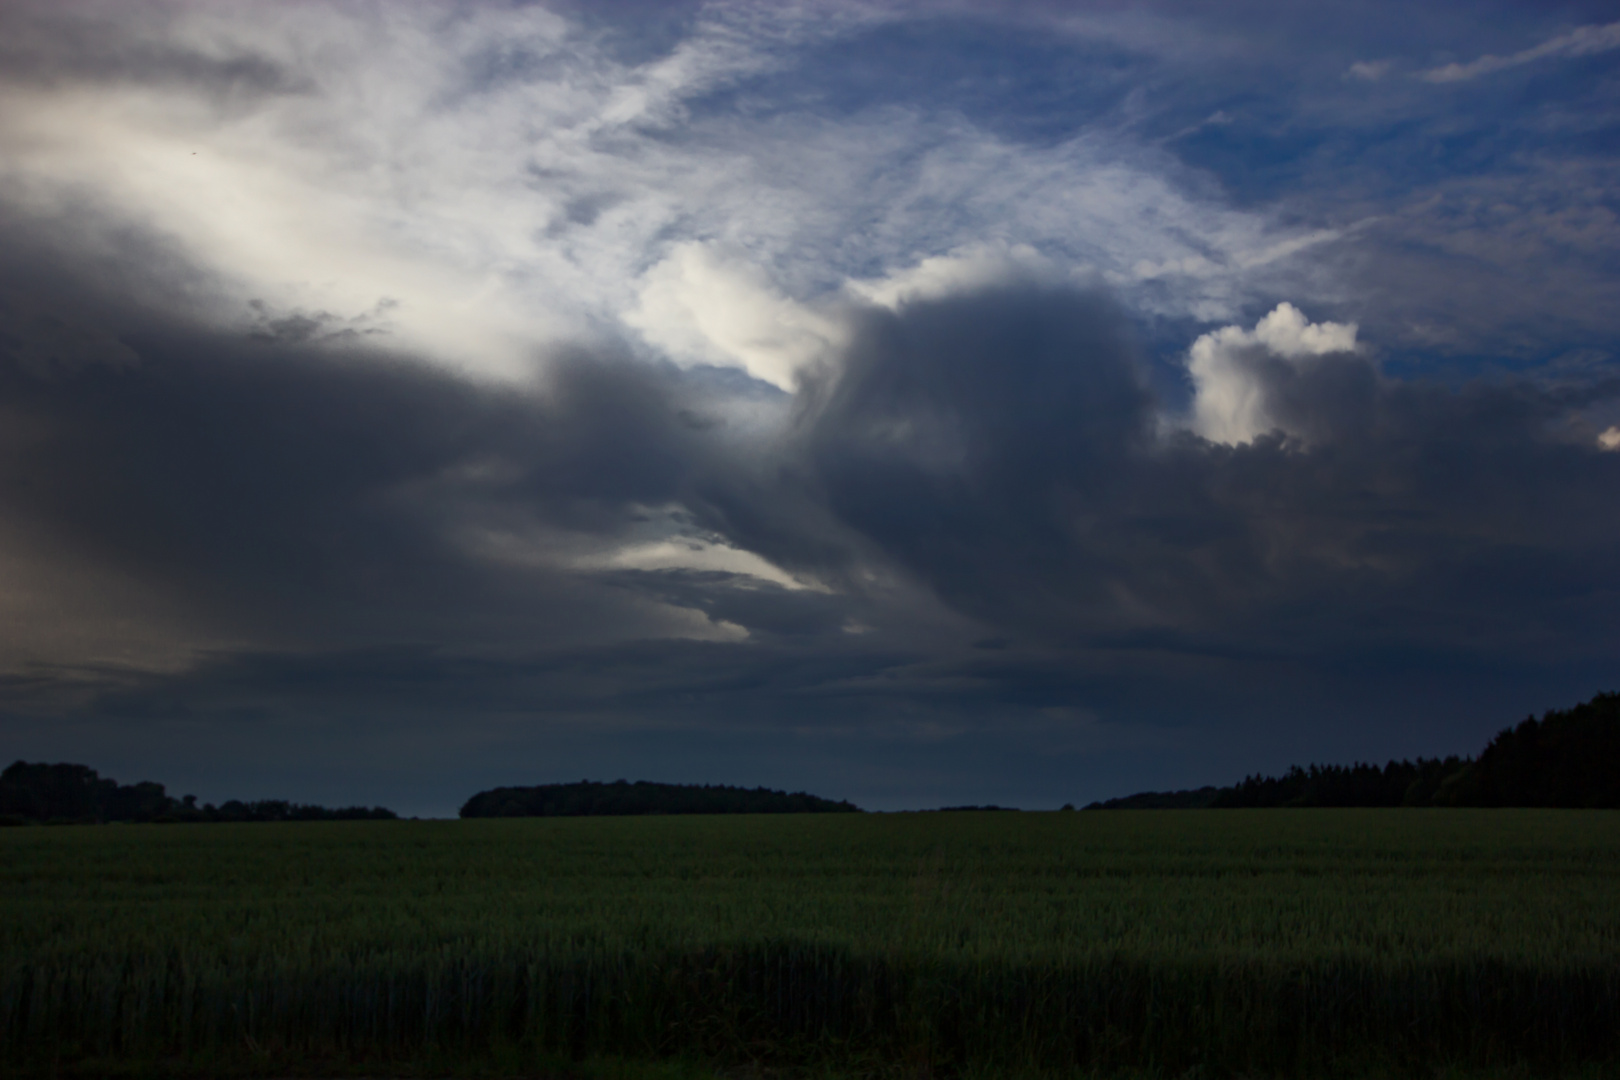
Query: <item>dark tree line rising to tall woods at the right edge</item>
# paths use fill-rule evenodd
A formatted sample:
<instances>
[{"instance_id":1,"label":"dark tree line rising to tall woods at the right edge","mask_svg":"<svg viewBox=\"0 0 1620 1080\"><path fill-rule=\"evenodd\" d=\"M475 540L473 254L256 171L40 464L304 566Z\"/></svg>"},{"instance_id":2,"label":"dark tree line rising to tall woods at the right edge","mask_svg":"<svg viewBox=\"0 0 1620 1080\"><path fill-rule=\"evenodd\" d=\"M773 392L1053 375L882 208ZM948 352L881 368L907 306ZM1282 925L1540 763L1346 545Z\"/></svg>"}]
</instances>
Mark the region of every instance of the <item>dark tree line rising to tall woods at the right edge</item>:
<instances>
[{"instance_id":1,"label":"dark tree line rising to tall woods at the right edge","mask_svg":"<svg viewBox=\"0 0 1620 1080\"><path fill-rule=\"evenodd\" d=\"M1479 758L1291 767L1231 787L1142 792L1087 810L1238 806L1609 806L1620 808L1620 693L1549 709L1502 730Z\"/></svg>"}]
</instances>

